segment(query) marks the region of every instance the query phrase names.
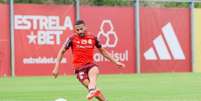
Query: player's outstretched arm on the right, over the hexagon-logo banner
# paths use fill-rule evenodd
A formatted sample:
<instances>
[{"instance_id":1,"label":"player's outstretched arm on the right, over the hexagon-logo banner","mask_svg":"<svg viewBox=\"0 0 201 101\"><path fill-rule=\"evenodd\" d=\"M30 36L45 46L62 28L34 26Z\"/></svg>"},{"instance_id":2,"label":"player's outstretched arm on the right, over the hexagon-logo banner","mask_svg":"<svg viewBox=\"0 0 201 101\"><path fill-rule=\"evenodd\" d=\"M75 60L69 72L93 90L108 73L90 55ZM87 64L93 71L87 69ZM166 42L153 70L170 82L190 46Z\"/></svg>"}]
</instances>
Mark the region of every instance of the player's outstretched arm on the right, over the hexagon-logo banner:
<instances>
[{"instance_id":1,"label":"player's outstretched arm on the right, over the hexagon-logo banner","mask_svg":"<svg viewBox=\"0 0 201 101\"><path fill-rule=\"evenodd\" d=\"M100 41L96 38L96 47L98 48L99 52L108 60L110 60L112 63L116 64L119 68L123 68L125 67L125 64L117 61L116 59L114 59L112 57L112 55L105 49L102 47L102 45L100 44Z\"/></svg>"}]
</instances>

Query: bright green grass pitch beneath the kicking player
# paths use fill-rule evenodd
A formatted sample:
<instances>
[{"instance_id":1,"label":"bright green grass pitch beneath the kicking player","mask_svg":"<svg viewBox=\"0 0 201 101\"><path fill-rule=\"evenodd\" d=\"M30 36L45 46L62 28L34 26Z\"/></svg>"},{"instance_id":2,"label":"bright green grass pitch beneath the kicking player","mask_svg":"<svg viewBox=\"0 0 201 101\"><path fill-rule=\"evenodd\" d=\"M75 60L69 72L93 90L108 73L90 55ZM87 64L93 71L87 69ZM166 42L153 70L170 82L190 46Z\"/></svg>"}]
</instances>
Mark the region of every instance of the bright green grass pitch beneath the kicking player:
<instances>
[{"instance_id":1,"label":"bright green grass pitch beneath the kicking player","mask_svg":"<svg viewBox=\"0 0 201 101\"><path fill-rule=\"evenodd\" d=\"M201 74L100 75L109 101L201 101ZM0 101L87 101L74 76L0 78ZM94 100L95 101L95 100Z\"/></svg>"}]
</instances>

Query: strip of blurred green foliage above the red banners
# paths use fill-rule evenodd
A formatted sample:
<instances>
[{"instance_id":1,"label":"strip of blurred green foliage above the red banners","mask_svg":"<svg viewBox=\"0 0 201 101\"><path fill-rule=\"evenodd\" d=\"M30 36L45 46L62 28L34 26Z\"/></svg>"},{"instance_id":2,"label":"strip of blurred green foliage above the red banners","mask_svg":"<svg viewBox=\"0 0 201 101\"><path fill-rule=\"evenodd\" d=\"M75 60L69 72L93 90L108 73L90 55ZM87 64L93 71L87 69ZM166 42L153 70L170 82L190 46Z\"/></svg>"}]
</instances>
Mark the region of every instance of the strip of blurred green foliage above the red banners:
<instances>
[{"instance_id":1,"label":"strip of blurred green foliage above the red banners","mask_svg":"<svg viewBox=\"0 0 201 101\"><path fill-rule=\"evenodd\" d=\"M0 3L7 3L9 0L0 0ZM162 0L161 0L162 1ZM75 0L14 0L22 4L74 4ZM134 0L80 0L81 5L90 6L133 6ZM151 0L141 1L143 7L189 7L189 3L180 2L152 2ZM195 3L196 8L201 8L201 2Z\"/></svg>"}]
</instances>

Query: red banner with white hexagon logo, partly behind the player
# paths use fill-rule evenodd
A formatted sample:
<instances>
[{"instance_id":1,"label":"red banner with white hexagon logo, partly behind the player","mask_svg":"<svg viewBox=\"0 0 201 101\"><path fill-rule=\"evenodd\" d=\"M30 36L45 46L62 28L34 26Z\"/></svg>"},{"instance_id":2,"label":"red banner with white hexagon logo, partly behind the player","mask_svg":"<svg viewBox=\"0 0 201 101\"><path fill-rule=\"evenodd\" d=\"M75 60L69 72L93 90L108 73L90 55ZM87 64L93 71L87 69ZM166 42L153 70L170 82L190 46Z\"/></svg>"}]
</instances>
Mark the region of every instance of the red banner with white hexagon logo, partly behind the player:
<instances>
[{"instance_id":1,"label":"red banner with white hexagon logo, partly behind the player","mask_svg":"<svg viewBox=\"0 0 201 101\"><path fill-rule=\"evenodd\" d=\"M119 70L98 51L94 60L101 73L134 73L135 33L133 9L131 7L81 7L81 18L86 21L88 30L101 41L114 58L126 64Z\"/></svg>"}]
</instances>

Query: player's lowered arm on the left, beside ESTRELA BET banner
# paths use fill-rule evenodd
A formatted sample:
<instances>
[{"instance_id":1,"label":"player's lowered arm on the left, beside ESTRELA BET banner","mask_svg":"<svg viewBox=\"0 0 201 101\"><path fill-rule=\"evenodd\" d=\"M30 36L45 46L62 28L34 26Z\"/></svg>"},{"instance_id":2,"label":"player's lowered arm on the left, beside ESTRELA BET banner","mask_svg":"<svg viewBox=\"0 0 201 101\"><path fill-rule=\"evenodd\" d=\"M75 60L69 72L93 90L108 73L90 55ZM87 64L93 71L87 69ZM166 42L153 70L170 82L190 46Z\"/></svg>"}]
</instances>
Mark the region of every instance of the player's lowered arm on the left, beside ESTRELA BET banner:
<instances>
[{"instance_id":1,"label":"player's lowered arm on the left, beside ESTRELA BET banner","mask_svg":"<svg viewBox=\"0 0 201 101\"><path fill-rule=\"evenodd\" d=\"M52 71L52 74L55 78L57 78L58 74L59 74L59 65L60 62L64 56L64 53L66 52L66 50L68 50L70 48L72 44L71 39L68 39L65 44L61 47L61 49L59 50L58 54L57 54L57 58L56 58L56 64L54 66L54 69Z\"/></svg>"}]
</instances>

